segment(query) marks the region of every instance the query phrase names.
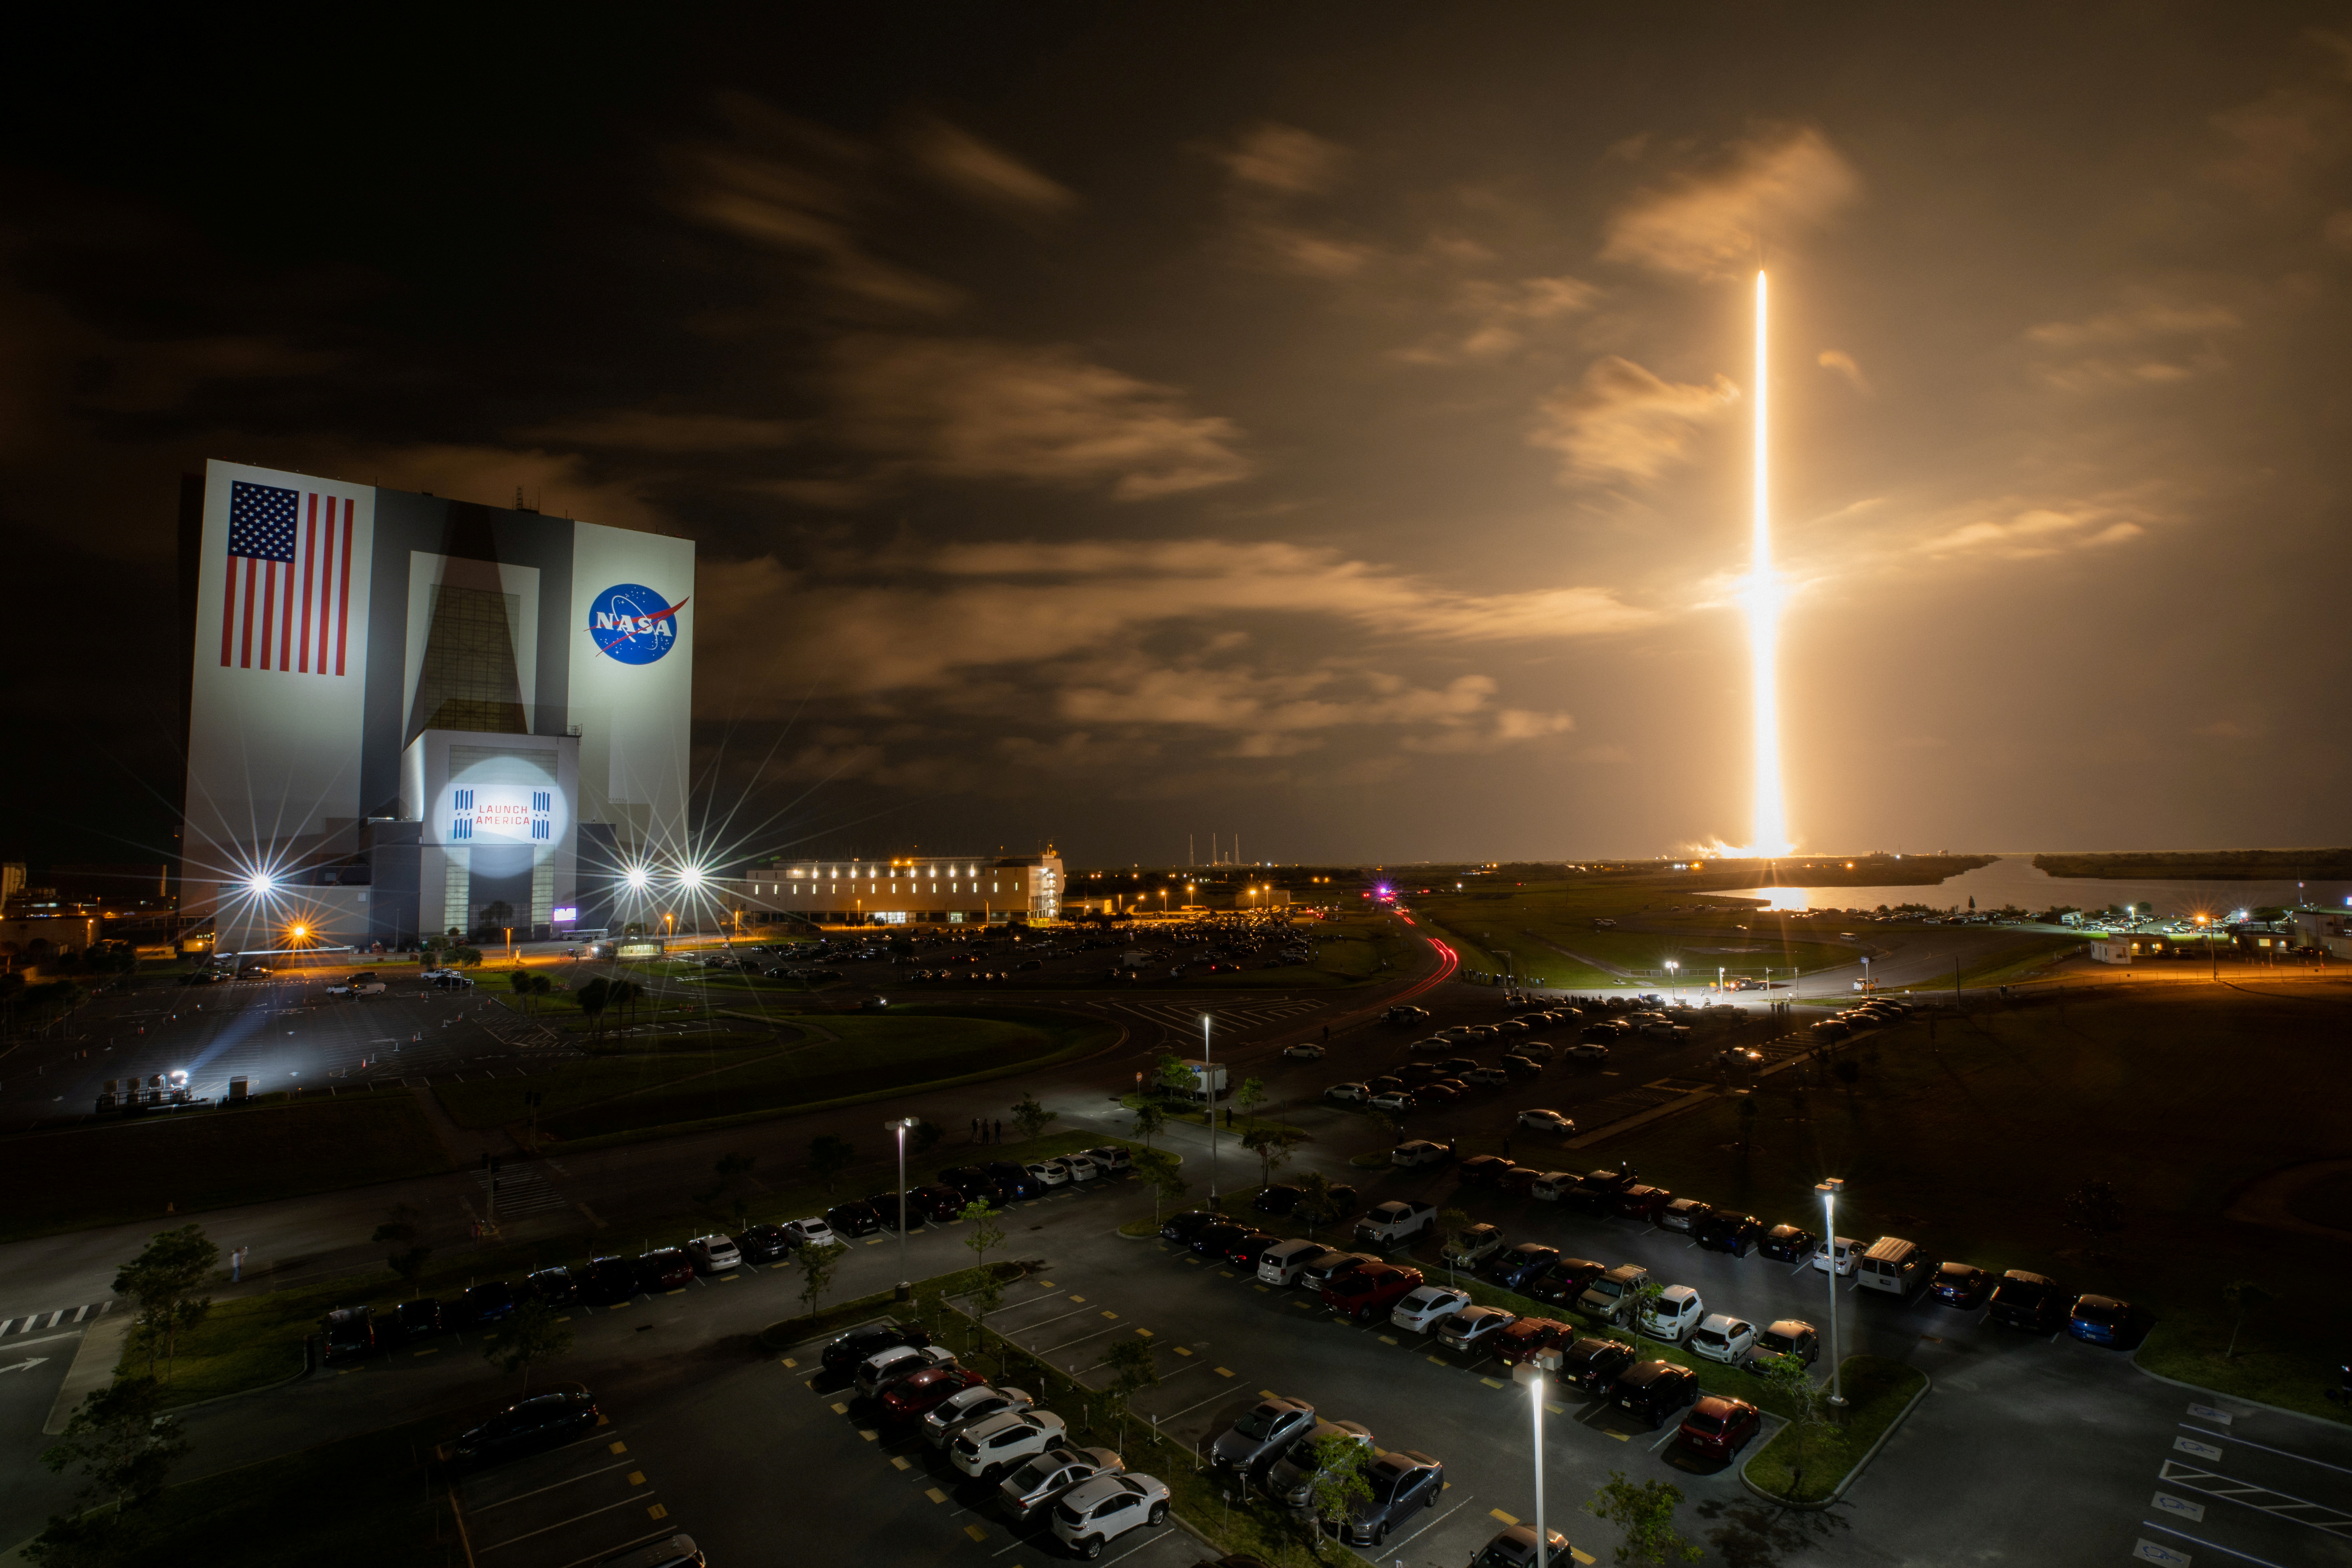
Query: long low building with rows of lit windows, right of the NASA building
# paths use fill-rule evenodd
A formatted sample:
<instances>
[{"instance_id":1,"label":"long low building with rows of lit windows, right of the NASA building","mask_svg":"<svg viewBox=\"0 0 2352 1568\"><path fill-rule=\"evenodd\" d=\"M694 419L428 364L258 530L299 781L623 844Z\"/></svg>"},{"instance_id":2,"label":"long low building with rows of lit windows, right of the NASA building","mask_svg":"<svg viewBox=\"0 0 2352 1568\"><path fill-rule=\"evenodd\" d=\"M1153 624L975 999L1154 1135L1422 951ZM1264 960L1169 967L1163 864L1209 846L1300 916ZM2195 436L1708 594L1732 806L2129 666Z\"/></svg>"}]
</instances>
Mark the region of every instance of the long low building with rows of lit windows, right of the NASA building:
<instances>
[{"instance_id":1,"label":"long low building with rows of lit windows, right of the NASA building","mask_svg":"<svg viewBox=\"0 0 2352 1568\"><path fill-rule=\"evenodd\" d=\"M776 860L713 879L734 917L797 914L818 926L962 926L1061 919L1061 856L898 856Z\"/></svg>"}]
</instances>

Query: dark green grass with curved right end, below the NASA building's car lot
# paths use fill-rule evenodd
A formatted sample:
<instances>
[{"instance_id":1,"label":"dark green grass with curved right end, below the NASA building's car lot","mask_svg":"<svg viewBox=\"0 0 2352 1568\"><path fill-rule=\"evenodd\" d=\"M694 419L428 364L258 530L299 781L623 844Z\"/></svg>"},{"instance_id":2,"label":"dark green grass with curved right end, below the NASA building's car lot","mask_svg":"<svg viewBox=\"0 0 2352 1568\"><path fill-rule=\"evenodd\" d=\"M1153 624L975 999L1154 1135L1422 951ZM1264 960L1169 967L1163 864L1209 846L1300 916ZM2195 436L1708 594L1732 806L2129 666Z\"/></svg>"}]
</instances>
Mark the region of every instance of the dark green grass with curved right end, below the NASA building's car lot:
<instances>
[{"instance_id":1,"label":"dark green grass with curved right end, below the NASA building's car lot","mask_svg":"<svg viewBox=\"0 0 2352 1568\"><path fill-rule=\"evenodd\" d=\"M739 1032L717 1046L663 1041L529 1077L435 1084L433 1093L461 1126L520 1121L529 1114L524 1093L543 1093L539 1135L557 1145L1037 1065L1112 1037L1112 1025L1042 1009L844 1013L816 1027L835 1039L811 1030L769 1041Z\"/></svg>"}]
</instances>

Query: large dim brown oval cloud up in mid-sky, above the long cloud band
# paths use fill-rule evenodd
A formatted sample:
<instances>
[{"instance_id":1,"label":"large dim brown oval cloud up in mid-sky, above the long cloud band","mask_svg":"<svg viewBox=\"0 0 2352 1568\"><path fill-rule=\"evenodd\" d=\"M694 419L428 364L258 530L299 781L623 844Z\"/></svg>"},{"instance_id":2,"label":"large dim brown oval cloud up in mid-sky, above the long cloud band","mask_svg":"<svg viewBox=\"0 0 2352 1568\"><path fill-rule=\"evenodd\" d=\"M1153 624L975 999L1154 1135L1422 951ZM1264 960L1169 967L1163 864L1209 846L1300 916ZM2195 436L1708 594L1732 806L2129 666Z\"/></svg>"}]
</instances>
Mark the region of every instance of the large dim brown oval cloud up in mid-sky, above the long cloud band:
<instances>
[{"instance_id":1,"label":"large dim brown oval cloud up in mid-sky, above the long cloud band","mask_svg":"<svg viewBox=\"0 0 2352 1568\"><path fill-rule=\"evenodd\" d=\"M1150 501L1251 473L1232 421L1073 348L856 336L835 350L835 390L851 444L953 480Z\"/></svg>"}]
</instances>

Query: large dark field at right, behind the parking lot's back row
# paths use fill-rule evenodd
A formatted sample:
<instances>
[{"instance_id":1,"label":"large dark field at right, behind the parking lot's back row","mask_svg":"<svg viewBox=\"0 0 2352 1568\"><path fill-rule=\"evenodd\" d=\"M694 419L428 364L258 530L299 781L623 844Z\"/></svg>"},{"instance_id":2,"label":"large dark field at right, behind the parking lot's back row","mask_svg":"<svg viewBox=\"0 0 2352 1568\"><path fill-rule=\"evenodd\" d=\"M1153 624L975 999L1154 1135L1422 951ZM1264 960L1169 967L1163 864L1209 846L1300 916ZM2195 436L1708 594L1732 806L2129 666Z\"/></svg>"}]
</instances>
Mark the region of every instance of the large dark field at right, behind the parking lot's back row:
<instances>
[{"instance_id":1,"label":"large dark field at right, behind the parking lot's back row","mask_svg":"<svg viewBox=\"0 0 2352 1568\"><path fill-rule=\"evenodd\" d=\"M1722 1100L1611 1140L1595 1164L1628 1159L1679 1194L1816 1227L1813 1182L1844 1175L1851 1237L2122 1295L2159 1319L2150 1371L2333 1415L2319 1389L2352 1335L2345 1248L2223 1211L2267 1171L2343 1154L2345 1039L2352 994L2333 987L2164 987L1917 1020L1856 1041L1851 1086L1764 1079L1745 1150ZM2126 1229L2098 1244L2065 1225L2089 1180L2124 1204ZM2223 1361L2223 1286L2241 1279L2303 1309L2251 1314Z\"/></svg>"}]
</instances>

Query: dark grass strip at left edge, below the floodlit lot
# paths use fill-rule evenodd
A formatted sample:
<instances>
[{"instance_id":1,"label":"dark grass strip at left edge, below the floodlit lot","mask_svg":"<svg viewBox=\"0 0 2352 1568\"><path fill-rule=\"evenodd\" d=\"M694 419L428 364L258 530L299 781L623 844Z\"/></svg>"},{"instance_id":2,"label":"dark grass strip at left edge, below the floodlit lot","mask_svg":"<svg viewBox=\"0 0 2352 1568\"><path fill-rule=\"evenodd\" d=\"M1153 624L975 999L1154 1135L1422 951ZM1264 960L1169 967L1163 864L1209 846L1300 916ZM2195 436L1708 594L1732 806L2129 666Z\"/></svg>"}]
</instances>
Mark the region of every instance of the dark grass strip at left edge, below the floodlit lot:
<instances>
[{"instance_id":1,"label":"dark grass strip at left edge, below the floodlit lot","mask_svg":"<svg viewBox=\"0 0 2352 1568\"><path fill-rule=\"evenodd\" d=\"M42 1199L12 1204L0 1241L447 1168L407 1091L26 1133L0 1138L0 1182Z\"/></svg>"}]
</instances>

